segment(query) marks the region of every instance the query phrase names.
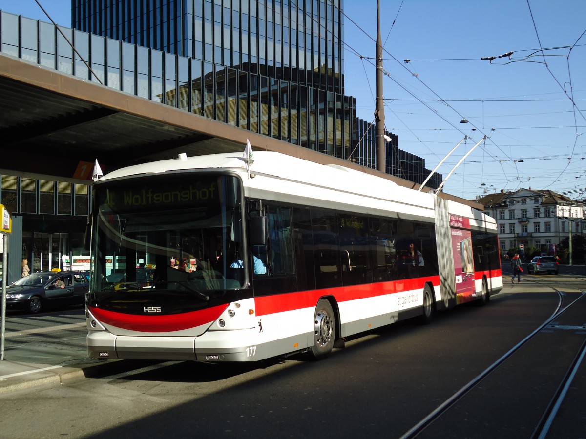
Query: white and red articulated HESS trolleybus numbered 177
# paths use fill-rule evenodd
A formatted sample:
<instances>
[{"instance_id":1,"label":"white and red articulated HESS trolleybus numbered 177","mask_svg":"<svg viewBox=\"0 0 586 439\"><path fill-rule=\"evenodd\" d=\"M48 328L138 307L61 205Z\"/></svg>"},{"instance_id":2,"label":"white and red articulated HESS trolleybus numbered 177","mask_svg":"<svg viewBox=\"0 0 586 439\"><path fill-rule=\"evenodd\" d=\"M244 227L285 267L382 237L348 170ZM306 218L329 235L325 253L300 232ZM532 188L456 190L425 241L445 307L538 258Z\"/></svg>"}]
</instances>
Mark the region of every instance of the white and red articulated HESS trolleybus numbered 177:
<instances>
[{"instance_id":1,"label":"white and red articulated HESS trolleybus numbered 177","mask_svg":"<svg viewBox=\"0 0 586 439\"><path fill-rule=\"evenodd\" d=\"M93 193L92 358L319 359L503 286L493 218L343 166L180 155Z\"/></svg>"}]
</instances>

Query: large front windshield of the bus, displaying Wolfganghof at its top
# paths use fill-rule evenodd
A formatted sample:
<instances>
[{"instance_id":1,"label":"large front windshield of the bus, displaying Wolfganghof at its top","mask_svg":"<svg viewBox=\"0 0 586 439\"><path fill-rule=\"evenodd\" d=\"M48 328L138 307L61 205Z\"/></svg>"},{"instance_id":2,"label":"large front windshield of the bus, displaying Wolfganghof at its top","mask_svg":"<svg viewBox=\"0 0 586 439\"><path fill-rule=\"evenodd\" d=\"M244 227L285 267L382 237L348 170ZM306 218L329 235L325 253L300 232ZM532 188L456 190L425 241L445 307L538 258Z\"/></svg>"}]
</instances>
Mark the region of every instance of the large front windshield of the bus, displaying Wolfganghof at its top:
<instances>
[{"instance_id":1,"label":"large front windshield of the bus, displaying Wolfganghof at its top","mask_svg":"<svg viewBox=\"0 0 586 439\"><path fill-rule=\"evenodd\" d=\"M93 298L172 294L209 301L241 289L229 269L241 248L241 184L235 176L183 173L97 184ZM226 257L224 257L226 256ZM136 296L140 293L139 296Z\"/></svg>"}]
</instances>

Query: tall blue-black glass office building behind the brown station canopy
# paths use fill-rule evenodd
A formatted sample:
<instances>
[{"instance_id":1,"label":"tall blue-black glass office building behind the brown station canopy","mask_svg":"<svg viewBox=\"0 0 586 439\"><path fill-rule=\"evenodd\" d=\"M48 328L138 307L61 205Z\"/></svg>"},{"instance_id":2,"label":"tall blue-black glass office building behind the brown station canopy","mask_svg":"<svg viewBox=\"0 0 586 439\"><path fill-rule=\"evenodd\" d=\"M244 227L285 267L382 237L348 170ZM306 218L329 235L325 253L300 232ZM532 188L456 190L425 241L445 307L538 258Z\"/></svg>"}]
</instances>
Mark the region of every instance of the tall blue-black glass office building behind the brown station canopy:
<instances>
[{"instance_id":1,"label":"tall blue-black glass office building behind the brown station canopy","mask_svg":"<svg viewBox=\"0 0 586 439\"><path fill-rule=\"evenodd\" d=\"M344 94L342 9L342 0L73 0L76 29L60 32L0 11L0 52L377 169L374 125ZM424 159L388 134L386 172L423 182ZM45 269L80 246L91 193L29 180L0 176L0 202L23 217L23 257Z\"/></svg>"}]
</instances>

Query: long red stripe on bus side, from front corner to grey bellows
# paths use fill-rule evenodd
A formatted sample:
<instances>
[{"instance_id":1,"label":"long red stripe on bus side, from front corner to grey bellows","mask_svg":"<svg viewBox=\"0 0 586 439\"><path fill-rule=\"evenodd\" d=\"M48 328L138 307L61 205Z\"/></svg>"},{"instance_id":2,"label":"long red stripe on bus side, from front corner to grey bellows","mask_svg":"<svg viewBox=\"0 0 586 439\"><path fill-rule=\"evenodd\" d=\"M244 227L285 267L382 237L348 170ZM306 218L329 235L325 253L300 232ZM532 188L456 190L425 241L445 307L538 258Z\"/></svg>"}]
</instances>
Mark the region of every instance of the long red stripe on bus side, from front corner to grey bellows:
<instances>
[{"instance_id":1,"label":"long red stripe on bus side, from front corner to grey bellows","mask_svg":"<svg viewBox=\"0 0 586 439\"><path fill-rule=\"evenodd\" d=\"M296 293L275 294L274 296L261 296L255 297L254 304L256 315L283 313L284 311L314 307L318 303L319 298L323 296L333 296L336 298L336 301L344 302L365 299L367 297L383 296L384 294L401 293L401 291L423 289L426 282L431 282L434 286L438 286L440 284L440 276L299 291Z\"/></svg>"}]
</instances>

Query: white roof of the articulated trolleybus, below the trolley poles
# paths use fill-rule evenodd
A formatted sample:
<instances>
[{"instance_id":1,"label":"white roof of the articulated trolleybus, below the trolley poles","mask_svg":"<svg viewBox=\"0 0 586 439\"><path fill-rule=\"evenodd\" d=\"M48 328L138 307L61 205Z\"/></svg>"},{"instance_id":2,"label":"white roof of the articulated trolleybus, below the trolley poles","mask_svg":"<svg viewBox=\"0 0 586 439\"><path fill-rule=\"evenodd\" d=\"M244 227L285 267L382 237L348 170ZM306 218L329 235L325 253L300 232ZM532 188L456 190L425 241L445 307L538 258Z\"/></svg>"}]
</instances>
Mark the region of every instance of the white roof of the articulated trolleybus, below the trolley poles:
<instances>
[{"instance_id":1,"label":"white roof of the articulated trolleybus, below the trolley poles","mask_svg":"<svg viewBox=\"0 0 586 439\"><path fill-rule=\"evenodd\" d=\"M314 163L272 151L254 151L253 159L250 173L254 174L254 178L247 177L246 163L242 153L220 153L137 164L108 173L100 180L190 169L223 169L239 172L244 181L245 191L247 194L254 193L254 196L272 191L299 196L305 194L305 196L348 204L360 203L360 197L366 196L370 200L385 200L393 204L410 205L418 211L418 214L423 214L423 210L431 210L425 216L431 216L434 209L434 194L399 186L393 181L358 170L336 164ZM336 192L332 193L332 190ZM332 197L338 200L333 200ZM378 204L373 201L372 206ZM391 208L388 203L383 204L387 204L385 208ZM450 211L455 209L465 217L475 217L480 213L473 212L473 209L466 205L454 202L449 204Z\"/></svg>"}]
</instances>

